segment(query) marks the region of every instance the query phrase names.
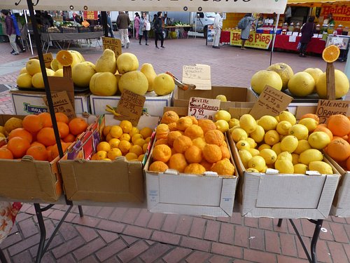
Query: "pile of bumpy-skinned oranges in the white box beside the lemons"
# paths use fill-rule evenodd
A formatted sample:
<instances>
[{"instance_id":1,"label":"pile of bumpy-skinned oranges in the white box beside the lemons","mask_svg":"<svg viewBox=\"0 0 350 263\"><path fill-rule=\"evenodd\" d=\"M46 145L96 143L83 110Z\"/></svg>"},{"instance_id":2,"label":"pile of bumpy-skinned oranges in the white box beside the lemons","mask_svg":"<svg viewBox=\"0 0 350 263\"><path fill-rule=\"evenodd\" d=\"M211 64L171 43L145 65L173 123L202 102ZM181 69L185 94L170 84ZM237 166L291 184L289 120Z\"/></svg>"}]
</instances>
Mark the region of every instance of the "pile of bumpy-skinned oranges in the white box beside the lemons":
<instances>
[{"instance_id":1,"label":"pile of bumpy-skinned oranges in the white box beside the lemons","mask_svg":"<svg viewBox=\"0 0 350 263\"><path fill-rule=\"evenodd\" d=\"M195 175L206 171L225 176L235 174L225 135L211 120L197 120L193 116L180 118L176 112L168 111L162 116L155 137L150 171L164 173L174 169Z\"/></svg>"}]
</instances>

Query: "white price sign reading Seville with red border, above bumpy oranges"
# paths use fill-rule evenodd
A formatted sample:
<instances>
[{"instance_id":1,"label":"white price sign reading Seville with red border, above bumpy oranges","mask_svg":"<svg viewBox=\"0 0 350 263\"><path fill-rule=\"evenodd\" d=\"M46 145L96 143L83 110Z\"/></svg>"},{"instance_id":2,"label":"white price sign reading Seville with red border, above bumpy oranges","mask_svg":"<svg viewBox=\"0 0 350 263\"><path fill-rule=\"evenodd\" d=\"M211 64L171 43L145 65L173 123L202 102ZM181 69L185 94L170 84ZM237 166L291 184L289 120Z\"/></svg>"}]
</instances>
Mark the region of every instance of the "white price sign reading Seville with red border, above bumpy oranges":
<instances>
[{"instance_id":1,"label":"white price sign reading Seville with red border, above bumpy oranges","mask_svg":"<svg viewBox=\"0 0 350 263\"><path fill-rule=\"evenodd\" d=\"M220 100L216 99L190 97L188 116L195 116L196 119L214 120L214 115L220 109L220 102Z\"/></svg>"}]
</instances>

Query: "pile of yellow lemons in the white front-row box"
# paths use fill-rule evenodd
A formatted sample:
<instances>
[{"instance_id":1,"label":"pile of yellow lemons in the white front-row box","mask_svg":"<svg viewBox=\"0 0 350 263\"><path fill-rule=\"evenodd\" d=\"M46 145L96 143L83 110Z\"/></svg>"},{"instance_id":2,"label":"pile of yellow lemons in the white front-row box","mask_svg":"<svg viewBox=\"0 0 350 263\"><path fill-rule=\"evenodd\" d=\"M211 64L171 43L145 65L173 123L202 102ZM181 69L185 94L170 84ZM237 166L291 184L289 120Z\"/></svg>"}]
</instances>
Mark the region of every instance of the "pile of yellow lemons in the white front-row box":
<instances>
[{"instance_id":1,"label":"pile of yellow lemons in the white front-row box","mask_svg":"<svg viewBox=\"0 0 350 263\"><path fill-rule=\"evenodd\" d=\"M314 132L318 126L315 119L304 118L297 123L293 114L283 111L279 116L262 116L258 121L250 114L232 121L235 125L230 134L248 172L265 173L267 168L274 168L288 174L306 174L307 170L332 174L321 152L330 143L330 137Z\"/></svg>"}]
</instances>

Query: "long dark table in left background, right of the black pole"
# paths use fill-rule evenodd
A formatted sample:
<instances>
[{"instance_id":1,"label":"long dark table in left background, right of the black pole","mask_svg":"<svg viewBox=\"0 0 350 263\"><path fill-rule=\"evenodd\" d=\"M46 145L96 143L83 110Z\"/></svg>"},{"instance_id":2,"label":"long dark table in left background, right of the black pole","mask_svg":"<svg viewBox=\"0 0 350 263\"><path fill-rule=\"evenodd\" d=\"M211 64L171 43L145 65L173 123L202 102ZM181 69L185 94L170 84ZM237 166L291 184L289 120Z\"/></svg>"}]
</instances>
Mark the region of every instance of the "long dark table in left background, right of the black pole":
<instances>
[{"instance_id":1,"label":"long dark table in left background, right of the black pole","mask_svg":"<svg viewBox=\"0 0 350 263\"><path fill-rule=\"evenodd\" d=\"M43 41L43 49L47 45L46 52L48 52L50 41L70 41L80 39L99 39L104 35L104 32L83 32L83 33L41 33L41 41ZM59 46L59 45L58 45ZM61 48L61 46L59 46ZM61 48L62 49L62 48Z\"/></svg>"}]
</instances>

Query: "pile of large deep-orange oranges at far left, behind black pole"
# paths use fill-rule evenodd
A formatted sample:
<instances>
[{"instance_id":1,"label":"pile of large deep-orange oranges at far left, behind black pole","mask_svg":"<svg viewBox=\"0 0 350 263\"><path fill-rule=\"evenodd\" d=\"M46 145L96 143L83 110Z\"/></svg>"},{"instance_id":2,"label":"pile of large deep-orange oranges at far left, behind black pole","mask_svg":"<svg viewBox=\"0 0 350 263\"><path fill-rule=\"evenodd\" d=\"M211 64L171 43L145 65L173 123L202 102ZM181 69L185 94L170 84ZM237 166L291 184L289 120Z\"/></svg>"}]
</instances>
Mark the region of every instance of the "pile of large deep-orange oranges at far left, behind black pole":
<instances>
[{"instance_id":1,"label":"pile of large deep-orange oranges at far left, behind black pole","mask_svg":"<svg viewBox=\"0 0 350 263\"><path fill-rule=\"evenodd\" d=\"M76 137L86 130L87 123L82 118L69 121L66 114L61 112L56 113L55 116L62 149L66 151ZM7 130L8 143L1 147L0 159L21 159L29 155L37 161L52 161L59 155L49 113L27 115L23 121L11 118L11 122L21 124Z\"/></svg>"}]
</instances>

